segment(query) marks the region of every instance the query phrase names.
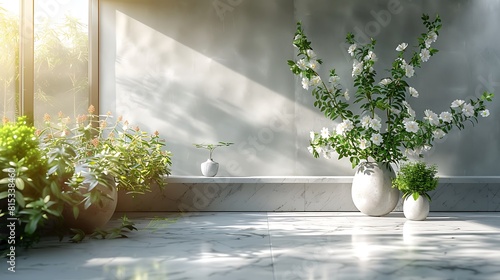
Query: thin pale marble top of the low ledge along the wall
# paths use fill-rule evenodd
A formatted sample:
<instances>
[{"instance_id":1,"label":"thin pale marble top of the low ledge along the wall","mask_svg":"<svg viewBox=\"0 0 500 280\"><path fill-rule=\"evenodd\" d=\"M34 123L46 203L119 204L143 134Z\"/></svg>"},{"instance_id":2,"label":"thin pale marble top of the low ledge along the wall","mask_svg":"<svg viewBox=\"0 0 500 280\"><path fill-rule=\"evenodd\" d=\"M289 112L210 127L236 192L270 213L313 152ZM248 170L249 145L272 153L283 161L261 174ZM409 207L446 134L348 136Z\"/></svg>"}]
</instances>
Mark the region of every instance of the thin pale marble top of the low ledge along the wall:
<instances>
[{"instance_id":1,"label":"thin pale marble top of the low ledge along the wall","mask_svg":"<svg viewBox=\"0 0 500 280\"><path fill-rule=\"evenodd\" d=\"M165 177L167 183L181 184L350 184L353 176L248 176L248 177ZM497 184L500 176L441 176L441 184Z\"/></svg>"}]
</instances>

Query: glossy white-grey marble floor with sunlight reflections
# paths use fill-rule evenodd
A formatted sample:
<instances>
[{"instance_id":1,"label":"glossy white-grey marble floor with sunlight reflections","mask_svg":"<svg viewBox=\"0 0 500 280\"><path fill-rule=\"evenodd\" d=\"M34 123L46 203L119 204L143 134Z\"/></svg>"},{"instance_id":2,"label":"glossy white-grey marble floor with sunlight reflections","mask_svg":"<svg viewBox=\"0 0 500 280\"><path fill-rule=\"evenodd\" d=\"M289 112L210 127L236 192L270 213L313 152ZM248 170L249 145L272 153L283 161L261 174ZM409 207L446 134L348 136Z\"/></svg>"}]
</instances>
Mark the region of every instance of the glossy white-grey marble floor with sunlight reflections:
<instances>
[{"instance_id":1,"label":"glossy white-grey marble floor with sunlight reflections","mask_svg":"<svg viewBox=\"0 0 500 280\"><path fill-rule=\"evenodd\" d=\"M128 238L45 238L0 279L500 279L500 212L127 216L139 229Z\"/></svg>"}]
</instances>

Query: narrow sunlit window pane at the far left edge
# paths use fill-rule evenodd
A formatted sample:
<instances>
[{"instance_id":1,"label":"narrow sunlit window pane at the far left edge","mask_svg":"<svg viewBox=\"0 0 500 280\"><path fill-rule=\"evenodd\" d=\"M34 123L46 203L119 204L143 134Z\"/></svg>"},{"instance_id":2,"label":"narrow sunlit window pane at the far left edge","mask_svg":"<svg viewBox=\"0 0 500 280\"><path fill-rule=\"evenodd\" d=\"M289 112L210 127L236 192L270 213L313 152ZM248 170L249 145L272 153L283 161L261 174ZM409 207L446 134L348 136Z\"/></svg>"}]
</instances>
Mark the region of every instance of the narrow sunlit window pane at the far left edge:
<instances>
[{"instance_id":1,"label":"narrow sunlit window pane at the far left edge","mask_svg":"<svg viewBox=\"0 0 500 280\"><path fill-rule=\"evenodd\" d=\"M19 100L19 1L0 0L0 112L14 120Z\"/></svg>"}]
</instances>

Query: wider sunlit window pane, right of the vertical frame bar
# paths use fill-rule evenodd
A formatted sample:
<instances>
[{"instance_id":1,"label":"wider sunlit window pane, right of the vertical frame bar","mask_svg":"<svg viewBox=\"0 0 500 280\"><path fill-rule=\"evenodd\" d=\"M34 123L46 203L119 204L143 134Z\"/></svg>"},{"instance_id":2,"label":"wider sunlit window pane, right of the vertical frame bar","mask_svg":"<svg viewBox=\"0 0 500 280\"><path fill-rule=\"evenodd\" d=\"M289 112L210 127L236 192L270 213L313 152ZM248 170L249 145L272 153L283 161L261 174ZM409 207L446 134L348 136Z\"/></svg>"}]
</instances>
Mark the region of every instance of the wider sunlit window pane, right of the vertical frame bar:
<instances>
[{"instance_id":1,"label":"wider sunlit window pane, right of the vertical frame bar","mask_svg":"<svg viewBox=\"0 0 500 280\"><path fill-rule=\"evenodd\" d=\"M35 1L35 124L89 106L88 0Z\"/></svg>"}]
</instances>

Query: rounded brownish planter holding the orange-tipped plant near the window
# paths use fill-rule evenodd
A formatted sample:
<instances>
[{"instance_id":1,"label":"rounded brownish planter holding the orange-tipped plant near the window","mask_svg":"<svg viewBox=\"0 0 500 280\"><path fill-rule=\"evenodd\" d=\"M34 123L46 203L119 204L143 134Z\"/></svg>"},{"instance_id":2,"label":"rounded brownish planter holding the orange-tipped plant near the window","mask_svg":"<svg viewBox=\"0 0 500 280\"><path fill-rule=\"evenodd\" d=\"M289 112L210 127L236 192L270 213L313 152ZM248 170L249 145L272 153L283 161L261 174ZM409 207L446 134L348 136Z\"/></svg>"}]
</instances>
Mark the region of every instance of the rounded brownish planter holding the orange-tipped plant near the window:
<instances>
[{"instance_id":1,"label":"rounded brownish planter holding the orange-tipped plant near the window","mask_svg":"<svg viewBox=\"0 0 500 280\"><path fill-rule=\"evenodd\" d=\"M109 180L114 180L111 176ZM63 209L64 223L69 228L81 229L85 233L92 233L96 228L104 227L113 214L115 213L116 204L118 202L118 192L115 187L109 188L104 185L97 185L93 191L101 192L102 203L94 203L90 205L89 208L85 209L83 203L78 205L79 214L75 219L73 215L73 208L66 206ZM87 193L87 188L80 189L80 194L84 195ZM111 197L111 199L105 196ZM81 197L78 195L78 197Z\"/></svg>"}]
</instances>

